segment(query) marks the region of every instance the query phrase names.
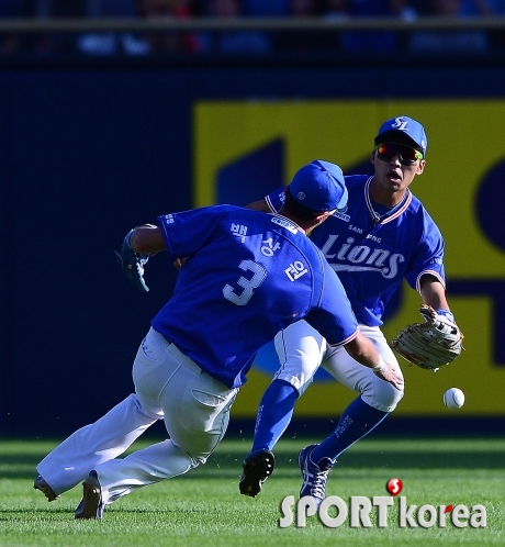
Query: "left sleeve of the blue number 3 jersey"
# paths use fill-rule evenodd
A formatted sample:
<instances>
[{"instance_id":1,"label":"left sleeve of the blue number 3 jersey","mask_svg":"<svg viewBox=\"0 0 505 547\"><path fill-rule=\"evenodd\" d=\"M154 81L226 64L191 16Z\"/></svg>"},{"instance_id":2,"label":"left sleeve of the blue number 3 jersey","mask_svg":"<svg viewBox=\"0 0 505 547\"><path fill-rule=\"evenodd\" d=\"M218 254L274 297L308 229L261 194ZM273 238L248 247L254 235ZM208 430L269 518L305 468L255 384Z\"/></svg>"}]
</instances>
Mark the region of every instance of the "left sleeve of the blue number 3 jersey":
<instances>
[{"instance_id":1,"label":"left sleeve of the blue number 3 jersey","mask_svg":"<svg viewBox=\"0 0 505 547\"><path fill-rule=\"evenodd\" d=\"M226 205L214 205L158 216L170 259L191 256L207 245L226 211Z\"/></svg>"}]
</instances>

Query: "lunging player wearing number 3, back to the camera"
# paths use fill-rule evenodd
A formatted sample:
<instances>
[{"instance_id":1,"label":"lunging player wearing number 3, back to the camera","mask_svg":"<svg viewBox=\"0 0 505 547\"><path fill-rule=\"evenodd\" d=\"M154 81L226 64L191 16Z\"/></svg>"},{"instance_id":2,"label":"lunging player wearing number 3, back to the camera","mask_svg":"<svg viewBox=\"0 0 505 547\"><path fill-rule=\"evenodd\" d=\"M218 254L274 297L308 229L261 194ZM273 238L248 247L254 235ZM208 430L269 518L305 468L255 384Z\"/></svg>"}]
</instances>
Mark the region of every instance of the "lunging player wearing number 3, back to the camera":
<instances>
[{"instance_id":1,"label":"lunging player wearing number 3, back to the camera","mask_svg":"<svg viewBox=\"0 0 505 547\"><path fill-rule=\"evenodd\" d=\"M340 281L306 237L347 202L340 168L313 161L289 188L278 214L216 205L161 215L158 226L126 236L121 264L141 290L148 290L149 255L167 250L172 261L186 257L184 267L136 355L135 393L37 466L34 488L49 501L83 480L75 516L100 518L121 496L204 464L256 351L302 319L401 389L403 379L360 333ZM117 458L157 420L169 439Z\"/></svg>"}]
</instances>

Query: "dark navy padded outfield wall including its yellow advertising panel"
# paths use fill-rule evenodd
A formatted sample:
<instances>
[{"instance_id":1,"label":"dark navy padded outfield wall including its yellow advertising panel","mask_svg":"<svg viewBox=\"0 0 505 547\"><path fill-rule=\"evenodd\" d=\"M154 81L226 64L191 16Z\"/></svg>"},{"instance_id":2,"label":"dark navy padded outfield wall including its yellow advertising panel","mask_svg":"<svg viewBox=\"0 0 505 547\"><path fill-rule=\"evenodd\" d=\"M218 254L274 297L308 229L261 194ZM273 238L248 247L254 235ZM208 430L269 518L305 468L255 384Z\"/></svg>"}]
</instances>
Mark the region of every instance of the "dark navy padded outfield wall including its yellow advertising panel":
<instances>
[{"instance_id":1,"label":"dark navy padded outfield wall including its yellow advertising panel","mask_svg":"<svg viewBox=\"0 0 505 547\"><path fill-rule=\"evenodd\" d=\"M216 202L244 204L315 158L370 169L381 121L428 135L412 187L446 237L448 294L464 354L436 375L404 367L394 416L505 421L505 65L258 62L53 63L0 71L0 435L65 435L132 391L131 366L176 272L149 261L150 292L113 249L134 225ZM420 320L403 288L385 333ZM260 351L233 410L251 421L274 367ZM406 365L406 364L405 364ZM354 397L318 372L295 416L335 418ZM391 418L393 420L393 418ZM312 423L312 422L311 422Z\"/></svg>"}]
</instances>

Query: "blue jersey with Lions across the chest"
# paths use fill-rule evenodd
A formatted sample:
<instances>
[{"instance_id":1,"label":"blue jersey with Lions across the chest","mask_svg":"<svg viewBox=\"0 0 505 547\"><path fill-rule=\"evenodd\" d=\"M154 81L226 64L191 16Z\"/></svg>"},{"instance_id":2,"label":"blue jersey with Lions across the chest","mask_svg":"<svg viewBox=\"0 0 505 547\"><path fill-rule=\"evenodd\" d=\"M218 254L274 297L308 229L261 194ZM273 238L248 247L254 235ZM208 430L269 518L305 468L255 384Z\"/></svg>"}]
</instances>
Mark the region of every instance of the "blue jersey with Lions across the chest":
<instances>
[{"instance_id":1,"label":"blue jersey with Lions across the chest","mask_svg":"<svg viewBox=\"0 0 505 547\"><path fill-rule=\"evenodd\" d=\"M380 326L385 304L403 278L417 291L424 275L445 286L444 238L409 190L397 210L377 222L369 190L371 177L352 175L345 180L347 210L316 227L311 239L340 278L359 323ZM279 210L284 190L266 200L272 211Z\"/></svg>"}]
</instances>

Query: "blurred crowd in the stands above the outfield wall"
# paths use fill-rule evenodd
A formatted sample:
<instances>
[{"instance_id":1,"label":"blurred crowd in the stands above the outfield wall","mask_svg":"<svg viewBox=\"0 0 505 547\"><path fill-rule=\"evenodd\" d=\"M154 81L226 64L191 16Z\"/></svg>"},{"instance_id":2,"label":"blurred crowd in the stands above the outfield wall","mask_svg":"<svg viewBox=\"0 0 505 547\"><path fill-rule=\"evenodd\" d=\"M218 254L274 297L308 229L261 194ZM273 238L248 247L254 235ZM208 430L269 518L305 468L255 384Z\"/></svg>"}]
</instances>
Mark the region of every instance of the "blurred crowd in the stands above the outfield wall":
<instances>
[{"instance_id":1,"label":"blurred crowd in the stands above the outfield wall","mask_svg":"<svg viewBox=\"0 0 505 547\"><path fill-rule=\"evenodd\" d=\"M79 18L319 18L352 21L395 18L505 16L505 0L0 0L0 20ZM407 25L406 25L407 27ZM314 52L476 53L505 49L505 30L374 31L156 31L3 33L0 56L79 54L146 56L173 54L268 55Z\"/></svg>"}]
</instances>

